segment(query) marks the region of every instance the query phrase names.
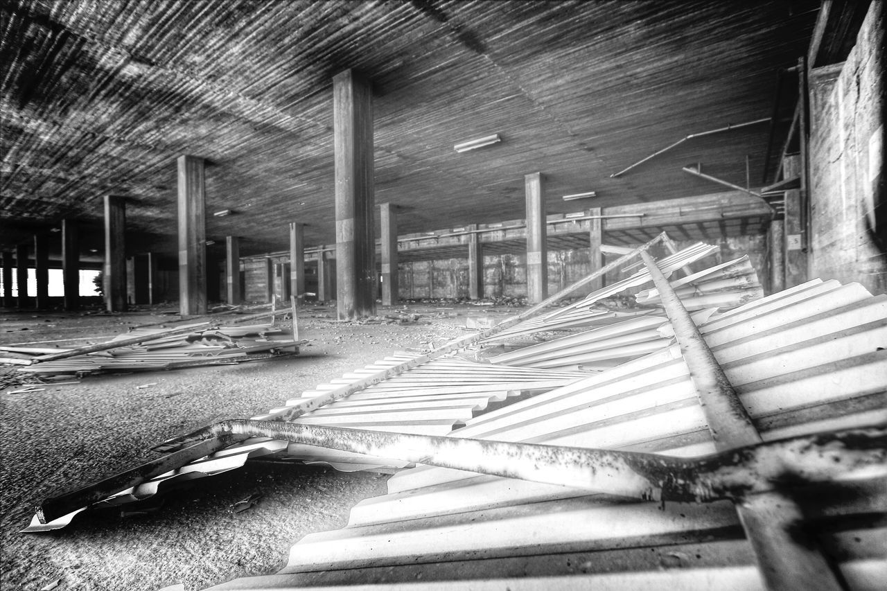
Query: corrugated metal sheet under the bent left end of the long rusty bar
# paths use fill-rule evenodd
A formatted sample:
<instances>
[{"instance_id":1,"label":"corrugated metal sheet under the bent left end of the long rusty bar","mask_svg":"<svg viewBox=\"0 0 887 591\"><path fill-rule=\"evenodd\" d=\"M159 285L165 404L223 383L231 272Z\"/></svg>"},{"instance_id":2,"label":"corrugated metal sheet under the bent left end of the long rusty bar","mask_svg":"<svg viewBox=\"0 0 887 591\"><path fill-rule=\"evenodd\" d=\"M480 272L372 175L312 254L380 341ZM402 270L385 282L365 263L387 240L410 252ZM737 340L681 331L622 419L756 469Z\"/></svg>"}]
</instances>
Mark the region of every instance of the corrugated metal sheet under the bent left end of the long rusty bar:
<instances>
[{"instance_id":1,"label":"corrugated metal sheet under the bent left end of the long rusty bar","mask_svg":"<svg viewBox=\"0 0 887 591\"><path fill-rule=\"evenodd\" d=\"M272 419L287 413L304 400L330 390L341 388L364 379L382 369L398 366L417 354L402 353L382 359L352 374L346 374L332 382L319 384L316 390L307 390L302 398L287 401L287 406L271 409L267 414L253 417L255 420ZM332 404L302 414L294 420L301 424L334 425L355 429L371 429L445 435L457 426L465 424L475 414L484 410L525 398L531 393L552 390L566 383L575 382L584 374L567 371L539 371L521 367L492 366L476 363L455 356L433 359L412 371L397 374L384 382L376 383ZM310 463L326 463L342 470L400 469L410 462L397 458L377 458L358 453L345 453L326 448L287 444L263 437L252 437L239 445L232 445L207 458L193 461L181 469L175 469L153 477L147 482L116 493L102 504L120 505L143 500L162 489L194 478L211 476L237 469L250 458L271 453L285 455ZM64 527L81 511L42 524L37 516L26 532L45 532Z\"/></svg>"}]
</instances>

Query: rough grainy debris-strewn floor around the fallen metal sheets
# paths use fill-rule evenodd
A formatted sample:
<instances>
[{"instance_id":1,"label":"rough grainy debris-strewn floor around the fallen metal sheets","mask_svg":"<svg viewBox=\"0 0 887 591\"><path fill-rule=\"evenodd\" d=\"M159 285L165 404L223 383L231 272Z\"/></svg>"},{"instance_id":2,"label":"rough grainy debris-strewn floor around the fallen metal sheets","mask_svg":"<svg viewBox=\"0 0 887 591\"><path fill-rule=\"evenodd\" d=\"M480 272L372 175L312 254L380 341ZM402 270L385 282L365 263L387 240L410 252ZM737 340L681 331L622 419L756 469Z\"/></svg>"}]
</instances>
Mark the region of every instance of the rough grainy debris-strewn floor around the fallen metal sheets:
<instances>
[{"instance_id":1,"label":"rough grainy debris-strewn floor around the fallen metal sheets","mask_svg":"<svg viewBox=\"0 0 887 591\"><path fill-rule=\"evenodd\" d=\"M439 346L473 332L465 328L467 315L491 312L502 319L516 312L453 303L428 303L410 311L420 313L420 324L359 325L330 322L334 309L306 306L300 311L300 336L310 339L310 346L295 357L90 376L29 394L9 394L15 389L4 388L0 587L39 590L58 582L54 588L59 591L114 591L183 583L190 591L277 571L296 540L343 526L357 501L385 493L385 477L256 462L172 493L159 510L127 507L138 514L122 516L120 509L108 509L77 516L57 532L20 530L43 498L151 460L156 457L152 445L185 429L260 414L393 351ZM157 312L4 310L0 344L110 336L129 326L177 318ZM0 369L0 374L8 371ZM232 512L233 503L253 493L262 495L258 504Z\"/></svg>"}]
</instances>

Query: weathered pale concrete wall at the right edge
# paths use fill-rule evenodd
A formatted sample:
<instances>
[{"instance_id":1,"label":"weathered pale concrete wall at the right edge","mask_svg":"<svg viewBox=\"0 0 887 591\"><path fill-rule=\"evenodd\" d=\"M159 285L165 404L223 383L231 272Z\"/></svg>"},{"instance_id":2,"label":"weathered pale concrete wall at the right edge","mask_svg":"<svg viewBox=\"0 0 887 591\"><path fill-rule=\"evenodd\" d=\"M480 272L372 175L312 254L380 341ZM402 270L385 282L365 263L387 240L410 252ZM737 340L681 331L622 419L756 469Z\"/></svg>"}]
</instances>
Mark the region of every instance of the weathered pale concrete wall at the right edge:
<instances>
[{"instance_id":1,"label":"weathered pale concrete wall at the right edge","mask_svg":"<svg viewBox=\"0 0 887 591\"><path fill-rule=\"evenodd\" d=\"M843 66L810 76L811 277L887 293L883 191L883 3Z\"/></svg>"}]
</instances>

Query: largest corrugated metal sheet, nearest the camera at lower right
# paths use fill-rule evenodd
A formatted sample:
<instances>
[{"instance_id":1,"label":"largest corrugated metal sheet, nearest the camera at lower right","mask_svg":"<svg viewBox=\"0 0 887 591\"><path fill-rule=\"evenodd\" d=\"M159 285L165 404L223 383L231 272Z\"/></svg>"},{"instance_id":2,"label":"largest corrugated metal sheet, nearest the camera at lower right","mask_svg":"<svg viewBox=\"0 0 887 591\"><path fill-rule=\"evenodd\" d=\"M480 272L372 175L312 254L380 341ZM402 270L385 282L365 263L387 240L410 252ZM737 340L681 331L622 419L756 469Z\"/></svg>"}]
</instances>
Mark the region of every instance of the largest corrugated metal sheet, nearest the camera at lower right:
<instances>
[{"instance_id":1,"label":"largest corrugated metal sheet, nearest the camera at lower right","mask_svg":"<svg viewBox=\"0 0 887 591\"><path fill-rule=\"evenodd\" d=\"M887 296L813 280L700 330L765 441L887 423ZM477 417L451 437L682 457L715 449L677 345ZM887 557L875 517L887 487L883 471L872 475L795 499L856 589L883 585ZM458 581L426 584L441 588L761 588L751 563L729 502L657 506L422 466L358 504L348 527L297 543L279 574L214 588L388 587L417 573ZM687 570L668 570L678 567ZM515 573L530 579L502 578Z\"/></svg>"}]
</instances>

